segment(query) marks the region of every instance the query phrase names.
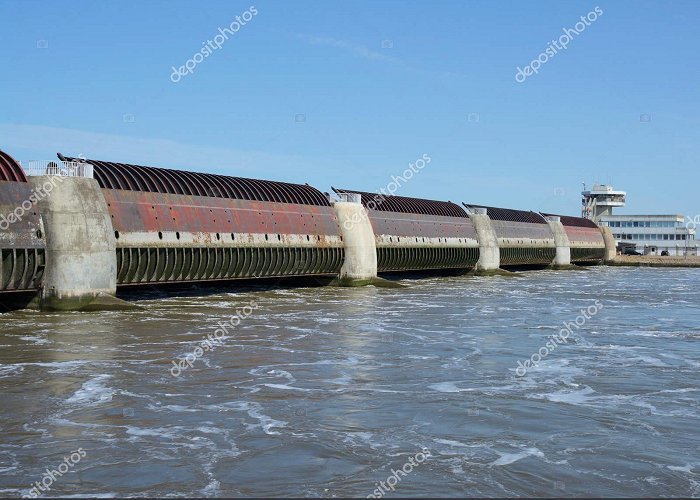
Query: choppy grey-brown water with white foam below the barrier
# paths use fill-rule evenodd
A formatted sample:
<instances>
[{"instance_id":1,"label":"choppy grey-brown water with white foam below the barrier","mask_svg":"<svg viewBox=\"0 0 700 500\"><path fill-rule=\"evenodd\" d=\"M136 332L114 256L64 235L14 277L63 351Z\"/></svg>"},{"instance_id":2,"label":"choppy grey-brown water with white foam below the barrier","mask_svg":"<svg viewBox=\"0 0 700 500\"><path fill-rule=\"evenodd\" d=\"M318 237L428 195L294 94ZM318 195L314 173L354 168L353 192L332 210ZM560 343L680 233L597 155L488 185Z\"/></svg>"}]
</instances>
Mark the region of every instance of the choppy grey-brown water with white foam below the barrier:
<instances>
[{"instance_id":1,"label":"choppy grey-brown water with white foam below the barrier","mask_svg":"<svg viewBox=\"0 0 700 500\"><path fill-rule=\"evenodd\" d=\"M700 270L402 283L0 316L0 495L700 495Z\"/></svg>"}]
</instances>

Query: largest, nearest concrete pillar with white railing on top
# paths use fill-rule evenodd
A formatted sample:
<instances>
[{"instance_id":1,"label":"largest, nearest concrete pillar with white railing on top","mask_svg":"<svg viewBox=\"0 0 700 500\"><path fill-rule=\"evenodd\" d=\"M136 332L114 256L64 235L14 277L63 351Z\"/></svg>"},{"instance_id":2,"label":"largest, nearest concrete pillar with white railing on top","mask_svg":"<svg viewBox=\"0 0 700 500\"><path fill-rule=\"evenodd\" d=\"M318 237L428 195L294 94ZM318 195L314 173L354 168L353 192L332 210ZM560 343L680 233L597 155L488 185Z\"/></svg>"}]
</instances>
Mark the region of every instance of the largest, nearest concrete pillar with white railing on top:
<instances>
[{"instance_id":1,"label":"largest, nearest concrete pillar with white railing on top","mask_svg":"<svg viewBox=\"0 0 700 500\"><path fill-rule=\"evenodd\" d=\"M46 232L45 310L109 307L117 289L116 240L94 179L30 177ZM42 194L43 193L43 194Z\"/></svg>"}]
</instances>

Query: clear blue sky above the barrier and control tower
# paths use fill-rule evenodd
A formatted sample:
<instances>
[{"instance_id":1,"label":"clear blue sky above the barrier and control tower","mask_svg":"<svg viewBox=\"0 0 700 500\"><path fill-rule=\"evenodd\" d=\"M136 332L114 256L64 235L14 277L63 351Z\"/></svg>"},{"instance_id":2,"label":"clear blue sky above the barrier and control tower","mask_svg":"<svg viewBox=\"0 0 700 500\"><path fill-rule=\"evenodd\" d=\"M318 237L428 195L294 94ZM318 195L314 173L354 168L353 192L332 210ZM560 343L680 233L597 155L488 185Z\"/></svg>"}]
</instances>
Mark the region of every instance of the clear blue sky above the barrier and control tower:
<instances>
[{"instance_id":1,"label":"clear blue sky above the barrier and control tower","mask_svg":"<svg viewBox=\"0 0 700 500\"><path fill-rule=\"evenodd\" d=\"M607 182L618 213L695 215L698 20L693 0L0 0L0 149L322 191L377 191L428 154L396 194L578 214L581 182Z\"/></svg>"}]
</instances>

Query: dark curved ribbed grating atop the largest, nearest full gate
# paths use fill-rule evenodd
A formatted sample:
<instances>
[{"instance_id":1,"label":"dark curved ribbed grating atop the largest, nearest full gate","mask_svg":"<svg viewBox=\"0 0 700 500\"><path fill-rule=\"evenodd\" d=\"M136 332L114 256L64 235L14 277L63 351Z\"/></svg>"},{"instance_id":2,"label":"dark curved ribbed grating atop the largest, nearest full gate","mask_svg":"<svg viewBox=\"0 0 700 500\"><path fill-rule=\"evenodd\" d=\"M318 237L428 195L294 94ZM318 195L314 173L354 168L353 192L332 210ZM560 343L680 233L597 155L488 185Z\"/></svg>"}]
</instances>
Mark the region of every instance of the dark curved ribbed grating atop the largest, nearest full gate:
<instances>
[{"instance_id":1,"label":"dark curved ribbed grating atop the largest, nearest full gate","mask_svg":"<svg viewBox=\"0 0 700 500\"><path fill-rule=\"evenodd\" d=\"M64 157L60 153L58 157L64 161L81 161L78 158ZM306 184L263 181L100 160L82 161L94 166L94 177L102 189L330 206L323 193Z\"/></svg>"}]
</instances>

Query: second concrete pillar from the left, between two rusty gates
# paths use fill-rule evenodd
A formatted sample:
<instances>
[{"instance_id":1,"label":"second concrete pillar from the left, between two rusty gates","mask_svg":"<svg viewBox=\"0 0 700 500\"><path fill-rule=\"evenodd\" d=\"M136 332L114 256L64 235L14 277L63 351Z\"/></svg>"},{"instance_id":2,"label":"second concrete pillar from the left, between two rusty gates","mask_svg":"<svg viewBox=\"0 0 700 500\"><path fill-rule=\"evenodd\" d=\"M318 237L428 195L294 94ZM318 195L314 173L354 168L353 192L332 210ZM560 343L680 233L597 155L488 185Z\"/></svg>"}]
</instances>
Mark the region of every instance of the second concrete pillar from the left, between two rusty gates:
<instances>
[{"instance_id":1,"label":"second concrete pillar from the left, between two rusty gates","mask_svg":"<svg viewBox=\"0 0 700 500\"><path fill-rule=\"evenodd\" d=\"M359 194L348 193L333 204L345 247L339 282L346 286L370 284L377 279L377 243L367 210L360 201Z\"/></svg>"}]
</instances>

